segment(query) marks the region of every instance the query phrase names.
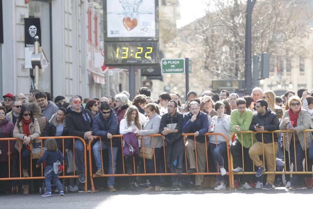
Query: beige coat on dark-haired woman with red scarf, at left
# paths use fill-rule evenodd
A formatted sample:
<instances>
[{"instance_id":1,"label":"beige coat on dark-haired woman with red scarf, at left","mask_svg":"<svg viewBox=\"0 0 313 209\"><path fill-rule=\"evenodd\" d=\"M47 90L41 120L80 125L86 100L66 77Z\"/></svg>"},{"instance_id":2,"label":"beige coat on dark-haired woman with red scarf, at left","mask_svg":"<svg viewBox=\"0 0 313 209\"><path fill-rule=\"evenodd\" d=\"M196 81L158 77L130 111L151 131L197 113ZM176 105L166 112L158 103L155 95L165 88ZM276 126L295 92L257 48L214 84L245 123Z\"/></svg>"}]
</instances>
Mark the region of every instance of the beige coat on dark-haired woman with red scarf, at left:
<instances>
[{"instance_id":1,"label":"beige coat on dark-haired woman with red scarf, at left","mask_svg":"<svg viewBox=\"0 0 313 209\"><path fill-rule=\"evenodd\" d=\"M40 128L39 128L39 124L36 118L34 118L34 122L30 122L29 123L29 132L30 132L30 138L33 142L33 140L35 140L36 138L40 137ZM15 143L15 149L17 149L19 152L21 151L20 149L22 149L22 145L23 145L23 138L24 136L26 136L25 134L23 134L23 124L22 122L16 123L14 130L13 130L13 137L14 138L18 138L20 140L17 140ZM35 140L35 143L40 142L41 140L37 139ZM21 142L21 147L19 148L19 142Z\"/></svg>"}]
</instances>

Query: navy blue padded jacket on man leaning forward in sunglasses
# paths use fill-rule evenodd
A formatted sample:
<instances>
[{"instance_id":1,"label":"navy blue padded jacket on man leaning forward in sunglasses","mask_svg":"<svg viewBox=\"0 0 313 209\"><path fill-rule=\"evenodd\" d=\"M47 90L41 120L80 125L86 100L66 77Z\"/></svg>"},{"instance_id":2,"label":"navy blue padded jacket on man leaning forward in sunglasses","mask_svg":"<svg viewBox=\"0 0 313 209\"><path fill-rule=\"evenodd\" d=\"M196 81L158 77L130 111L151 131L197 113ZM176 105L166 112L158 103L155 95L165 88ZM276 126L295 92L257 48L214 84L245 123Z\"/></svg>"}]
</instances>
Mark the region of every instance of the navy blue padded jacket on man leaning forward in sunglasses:
<instances>
[{"instance_id":1,"label":"navy blue padded jacket on man leaning forward in sunglasses","mask_svg":"<svg viewBox=\"0 0 313 209\"><path fill-rule=\"evenodd\" d=\"M117 134L118 129L118 120L117 115L114 110L111 108L110 116L105 120L102 116L102 113L99 113L94 118L93 130L95 136L103 137L104 144L111 146L111 140L107 138L107 133L109 132L112 135ZM121 145L121 138L112 138L112 146L119 147Z\"/></svg>"}]
</instances>

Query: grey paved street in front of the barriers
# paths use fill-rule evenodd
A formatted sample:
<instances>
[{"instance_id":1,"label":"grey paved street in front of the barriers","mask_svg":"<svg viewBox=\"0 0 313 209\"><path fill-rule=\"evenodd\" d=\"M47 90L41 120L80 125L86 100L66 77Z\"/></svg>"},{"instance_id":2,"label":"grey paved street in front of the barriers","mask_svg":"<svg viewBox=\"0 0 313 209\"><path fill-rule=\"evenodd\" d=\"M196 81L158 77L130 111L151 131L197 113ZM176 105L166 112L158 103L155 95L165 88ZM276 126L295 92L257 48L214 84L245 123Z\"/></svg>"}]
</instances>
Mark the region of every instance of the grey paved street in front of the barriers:
<instances>
[{"instance_id":1,"label":"grey paved street in front of the barriers","mask_svg":"<svg viewBox=\"0 0 313 209\"><path fill-rule=\"evenodd\" d=\"M254 194L254 195L252 195ZM38 194L23 196L14 194L0 196L0 208L188 208L212 206L234 208L272 208L293 206L296 201L298 208L309 206L313 190L285 191L284 187L275 190L233 190L215 191L182 190L161 192L130 192L114 193L100 191L93 194L69 193L65 196L54 194L52 197L41 197ZM290 201L288 201L290 200ZM304 201L305 200L305 201ZM264 204L264 205L263 205ZM228 206L227 206L228 205ZM149 206L149 207L147 207Z\"/></svg>"}]
</instances>

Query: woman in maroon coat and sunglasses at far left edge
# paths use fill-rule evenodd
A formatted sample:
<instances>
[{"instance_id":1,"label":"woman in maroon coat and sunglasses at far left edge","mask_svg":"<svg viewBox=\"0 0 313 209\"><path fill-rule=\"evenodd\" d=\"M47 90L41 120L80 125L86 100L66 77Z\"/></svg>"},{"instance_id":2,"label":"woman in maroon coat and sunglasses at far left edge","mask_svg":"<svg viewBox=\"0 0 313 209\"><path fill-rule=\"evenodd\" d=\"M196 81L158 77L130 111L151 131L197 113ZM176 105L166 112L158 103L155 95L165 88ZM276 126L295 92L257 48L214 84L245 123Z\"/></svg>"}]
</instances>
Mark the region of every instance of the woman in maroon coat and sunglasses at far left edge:
<instances>
[{"instance_id":1,"label":"woman in maroon coat and sunglasses at far left edge","mask_svg":"<svg viewBox=\"0 0 313 209\"><path fill-rule=\"evenodd\" d=\"M0 107L0 138L12 138L13 137L13 123L10 123L8 118L5 118L5 107ZM15 140L0 141L0 147L2 148L2 154L0 154L0 178L8 178L12 176L13 160L16 160L16 149L14 149ZM0 152L1 153L1 152ZM10 160L10 167L9 167ZM11 171L9 176L9 170ZM5 195L10 194L10 181L2 181L0 183L0 189Z\"/></svg>"}]
</instances>

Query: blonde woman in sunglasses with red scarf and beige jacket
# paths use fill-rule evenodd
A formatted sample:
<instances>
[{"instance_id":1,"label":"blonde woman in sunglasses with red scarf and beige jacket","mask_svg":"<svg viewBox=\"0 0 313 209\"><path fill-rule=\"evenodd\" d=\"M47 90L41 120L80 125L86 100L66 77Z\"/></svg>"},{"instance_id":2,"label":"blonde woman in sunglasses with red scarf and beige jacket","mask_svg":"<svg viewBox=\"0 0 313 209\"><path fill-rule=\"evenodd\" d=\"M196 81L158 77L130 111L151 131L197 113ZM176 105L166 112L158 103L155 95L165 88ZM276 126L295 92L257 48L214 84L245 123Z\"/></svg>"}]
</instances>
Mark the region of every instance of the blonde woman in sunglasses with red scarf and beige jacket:
<instances>
[{"instance_id":1,"label":"blonde woman in sunglasses with red scarf and beige jacket","mask_svg":"<svg viewBox=\"0 0 313 209\"><path fill-rule=\"evenodd\" d=\"M306 110L301 109L301 100L299 97L290 97L288 100L288 106L290 109L285 111L283 116L284 119L280 122L279 129L294 131L293 133L285 133L284 146L285 150L290 152L290 160L294 165L293 171L303 171L302 162L305 159L305 149L307 149L306 152L308 153L308 149L313 139L310 132L303 132L310 128L310 117ZM290 146L288 146L288 144ZM310 170L312 170L312 168ZM293 174L289 190L305 189L303 183L304 177L305 175Z\"/></svg>"}]
</instances>

